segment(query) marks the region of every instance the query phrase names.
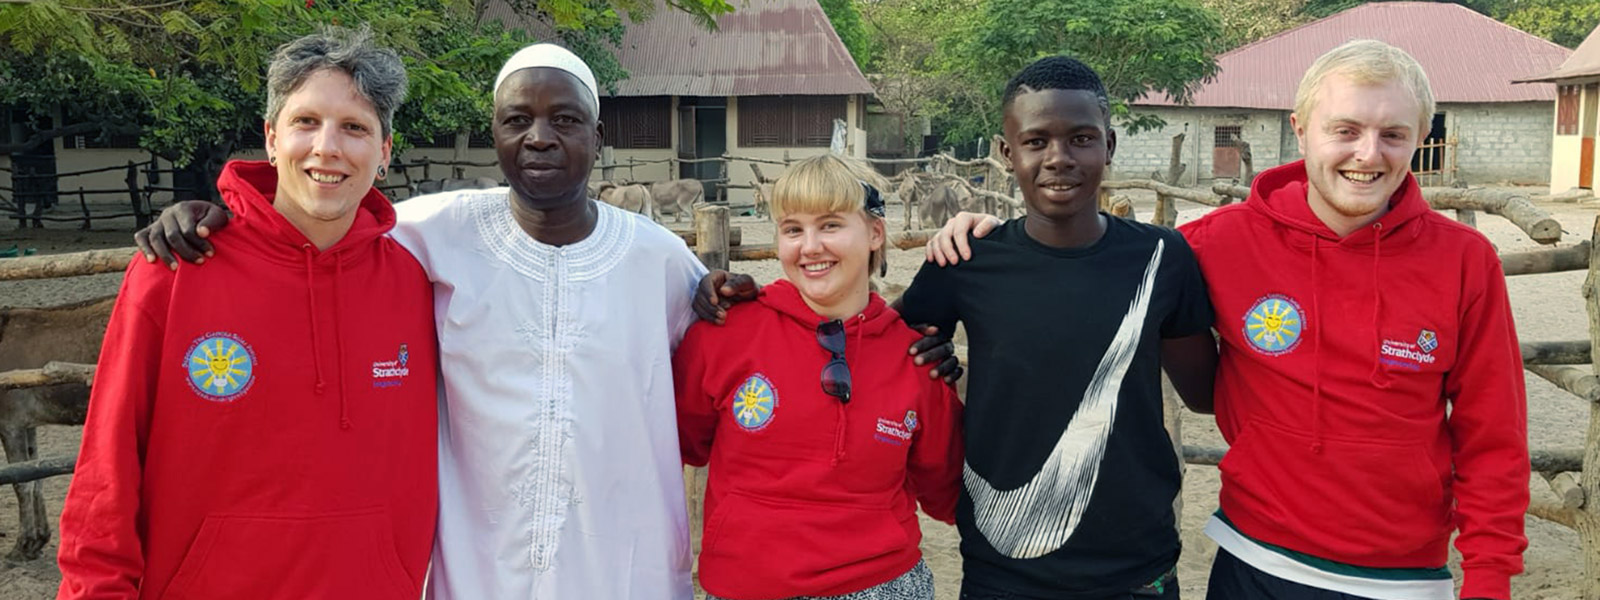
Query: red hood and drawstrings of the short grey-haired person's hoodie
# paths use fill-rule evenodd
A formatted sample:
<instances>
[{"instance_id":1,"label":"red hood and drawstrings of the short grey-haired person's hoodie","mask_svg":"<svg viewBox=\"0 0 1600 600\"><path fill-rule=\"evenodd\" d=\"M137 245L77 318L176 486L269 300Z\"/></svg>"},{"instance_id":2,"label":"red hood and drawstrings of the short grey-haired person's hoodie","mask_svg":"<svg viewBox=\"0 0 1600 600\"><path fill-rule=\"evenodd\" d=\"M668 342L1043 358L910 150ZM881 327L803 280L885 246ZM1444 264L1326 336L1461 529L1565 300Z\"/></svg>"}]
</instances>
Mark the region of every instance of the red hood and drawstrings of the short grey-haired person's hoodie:
<instances>
[{"instance_id":1,"label":"red hood and drawstrings of the short grey-haired person's hoodie","mask_svg":"<svg viewBox=\"0 0 1600 600\"><path fill-rule=\"evenodd\" d=\"M355 208L355 221L350 222L350 230L333 246L328 246L328 250L318 250L306 234L301 234L294 224L272 208L272 200L278 189L278 171L270 163L259 160L229 162L222 168L222 176L218 179L216 187L222 192L227 208L234 211L234 219L229 221L226 232L237 235L238 243L246 246L243 248L245 251L282 266L304 269L306 306L310 315L312 363L317 365L315 392L318 395L325 394L328 386L322 354L323 336L317 323L323 320L320 318L323 312L331 314L330 322L333 323L334 341L333 365L342 365L346 357L339 323L342 322L344 298L339 291L339 280L344 278L346 266L368 259L378 251L378 237L395 226L394 206L376 187L368 189L366 195L362 197L360 206ZM317 278L330 275L333 294L318 301ZM328 306L322 302L328 302ZM349 394L344 389L344 379L341 376L338 386L339 427L350 429Z\"/></svg>"}]
</instances>

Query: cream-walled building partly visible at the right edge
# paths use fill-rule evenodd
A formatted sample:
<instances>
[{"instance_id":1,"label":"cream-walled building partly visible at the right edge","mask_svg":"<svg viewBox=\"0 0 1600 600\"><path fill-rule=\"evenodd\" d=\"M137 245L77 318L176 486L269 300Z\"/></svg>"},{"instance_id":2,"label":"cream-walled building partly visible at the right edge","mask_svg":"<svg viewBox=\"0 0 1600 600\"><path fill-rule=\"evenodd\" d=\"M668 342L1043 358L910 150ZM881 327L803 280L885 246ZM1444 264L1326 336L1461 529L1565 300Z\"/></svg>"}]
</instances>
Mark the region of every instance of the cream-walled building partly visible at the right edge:
<instances>
[{"instance_id":1,"label":"cream-walled building partly visible at the right edge","mask_svg":"<svg viewBox=\"0 0 1600 600\"><path fill-rule=\"evenodd\" d=\"M1595 104L1600 99L1600 27L1560 67L1518 83L1555 83L1550 134L1550 194L1594 189Z\"/></svg>"}]
</instances>

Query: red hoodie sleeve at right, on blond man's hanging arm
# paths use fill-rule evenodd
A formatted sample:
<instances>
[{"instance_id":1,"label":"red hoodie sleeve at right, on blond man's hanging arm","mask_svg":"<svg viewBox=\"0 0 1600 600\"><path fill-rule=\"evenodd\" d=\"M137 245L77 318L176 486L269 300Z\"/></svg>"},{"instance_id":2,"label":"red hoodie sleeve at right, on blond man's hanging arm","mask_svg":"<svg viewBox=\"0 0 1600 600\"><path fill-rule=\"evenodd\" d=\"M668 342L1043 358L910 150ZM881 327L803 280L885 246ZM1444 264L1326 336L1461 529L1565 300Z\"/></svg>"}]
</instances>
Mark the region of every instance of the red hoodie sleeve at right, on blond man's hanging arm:
<instances>
[{"instance_id":1,"label":"red hoodie sleeve at right, on blond man's hanging arm","mask_svg":"<svg viewBox=\"0 0 1600 600\"><path fill-rule=\"evenodd\" d=\"M1488 245L1483 254L1467 258L1478 261L1469 262L1467 282L1469 294L1478 294L1464 304L1456 365L1445 376L1461 530L1456 549L1462 598L1510 598L1510 576L1522 573L1528 547L1528 395L1506 275Z\"/></svg>"}]
</instances>

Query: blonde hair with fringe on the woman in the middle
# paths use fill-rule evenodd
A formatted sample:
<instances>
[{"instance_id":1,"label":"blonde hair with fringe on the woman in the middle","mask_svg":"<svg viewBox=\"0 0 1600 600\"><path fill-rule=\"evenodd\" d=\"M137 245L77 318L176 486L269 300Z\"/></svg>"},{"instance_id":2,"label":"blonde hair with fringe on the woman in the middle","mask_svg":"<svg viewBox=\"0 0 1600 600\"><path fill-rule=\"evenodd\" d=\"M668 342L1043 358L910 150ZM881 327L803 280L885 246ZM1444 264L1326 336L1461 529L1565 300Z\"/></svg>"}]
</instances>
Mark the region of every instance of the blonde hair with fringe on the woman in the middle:
<instances>
[{"instance_id":1,"label":"blonde hair with fringe on the woman in the middle","mask_svg":"<svg viewBox=\"0 0 1600 600\"><path fill-rule=\"evenodd\" d=\"M882 222L882 216L867 211L867 189L862 184L877 189L880 198L888 187L888 181L870 166L835 154L797 162L773 184L773 221L782 221L794 213L858 213L869 226ZM883 272L883 248L867 256L867 269Z\"/></svg>"}]
</instances>

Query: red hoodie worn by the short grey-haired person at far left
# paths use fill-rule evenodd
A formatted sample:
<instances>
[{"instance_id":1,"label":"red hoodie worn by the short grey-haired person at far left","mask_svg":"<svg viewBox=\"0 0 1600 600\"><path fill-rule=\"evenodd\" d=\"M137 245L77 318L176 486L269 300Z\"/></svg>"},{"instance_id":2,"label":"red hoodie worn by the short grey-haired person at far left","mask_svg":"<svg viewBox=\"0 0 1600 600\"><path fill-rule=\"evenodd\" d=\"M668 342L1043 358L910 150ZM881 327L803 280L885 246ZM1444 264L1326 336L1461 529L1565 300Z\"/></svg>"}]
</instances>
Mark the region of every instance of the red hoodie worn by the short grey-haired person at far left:
<instances>
[{"instance_id":1,"label":"red hoodie worn by the short grey-haired person at far left","mask_svg":"<svg viewBox=\"0 0 1600 600\"><path fill-rule=\"evenodd\" d=\"M318 251L232 162L227 251L134 258L61 514L59 598L421 595L437 514L437 350L378 190ZM216 368L216 371L213 371Z\"/></svg>"}]
</instances>

